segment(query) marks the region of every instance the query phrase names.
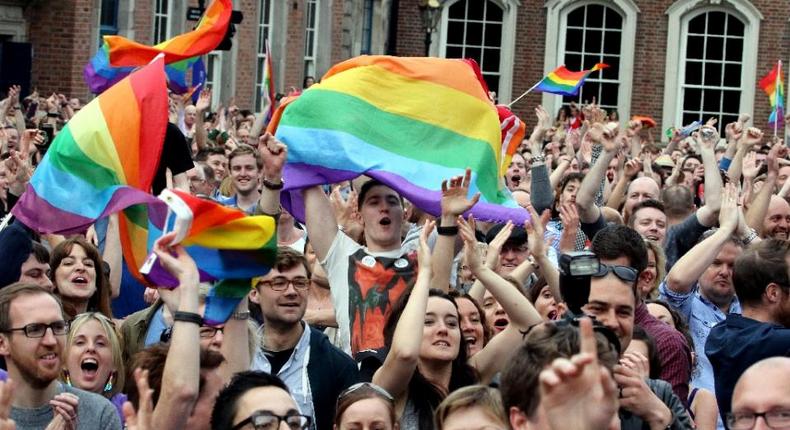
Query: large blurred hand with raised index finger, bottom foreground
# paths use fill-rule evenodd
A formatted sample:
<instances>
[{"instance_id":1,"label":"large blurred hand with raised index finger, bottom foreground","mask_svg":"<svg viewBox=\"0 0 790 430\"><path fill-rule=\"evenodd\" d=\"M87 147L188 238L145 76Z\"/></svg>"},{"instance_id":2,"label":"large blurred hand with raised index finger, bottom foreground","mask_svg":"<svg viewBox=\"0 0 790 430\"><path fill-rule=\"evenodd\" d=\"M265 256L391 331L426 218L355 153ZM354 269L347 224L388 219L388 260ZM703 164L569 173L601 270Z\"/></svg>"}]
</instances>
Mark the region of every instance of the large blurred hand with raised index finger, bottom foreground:
<instances>
[{"instance_id":1,"label":"large blurred hand with raised index finger, bottom foreground","mask_svg":"<svg viewBox=\"0 0 790 430\"><path fill-rule=\"evenodd\" d=\"M607 429L617 413L617 386L598 363L592 321L583 318L579 331L579 353L555 359L540 372L541 407L551 428Z\"/></svg>"}]
</instances>

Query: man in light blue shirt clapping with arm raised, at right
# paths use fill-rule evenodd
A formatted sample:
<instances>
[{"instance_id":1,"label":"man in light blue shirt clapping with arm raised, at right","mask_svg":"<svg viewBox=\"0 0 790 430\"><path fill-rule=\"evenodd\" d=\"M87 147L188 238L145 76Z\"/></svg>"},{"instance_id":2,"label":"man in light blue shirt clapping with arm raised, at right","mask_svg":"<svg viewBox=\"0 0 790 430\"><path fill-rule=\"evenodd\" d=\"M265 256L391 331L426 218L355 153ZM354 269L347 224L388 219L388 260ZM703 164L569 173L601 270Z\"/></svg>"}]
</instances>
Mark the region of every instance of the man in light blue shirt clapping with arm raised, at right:
<instances>
[{"instance_id":1,"label":"man in light blue shirt clapping with arm raised, at right","mask_svg":"<svg viewBox=\"0 0 790 430\"><path fill-rule=\"evenodd\" d=\"M734 198L730 196L731 191L725 194L725 199ZM691 386L710 391L714 390L713 368L702 353L708 334L728 314L741 313L732 272L743 245L733 236L739 213L737 207L733 210L732 206L722 204L719 228L703 234L702 240L675 263L659 286L661 300L669 303L688 321L694 350L699 352L698 371L692 375Z\"/></svg>"}]
</instances>

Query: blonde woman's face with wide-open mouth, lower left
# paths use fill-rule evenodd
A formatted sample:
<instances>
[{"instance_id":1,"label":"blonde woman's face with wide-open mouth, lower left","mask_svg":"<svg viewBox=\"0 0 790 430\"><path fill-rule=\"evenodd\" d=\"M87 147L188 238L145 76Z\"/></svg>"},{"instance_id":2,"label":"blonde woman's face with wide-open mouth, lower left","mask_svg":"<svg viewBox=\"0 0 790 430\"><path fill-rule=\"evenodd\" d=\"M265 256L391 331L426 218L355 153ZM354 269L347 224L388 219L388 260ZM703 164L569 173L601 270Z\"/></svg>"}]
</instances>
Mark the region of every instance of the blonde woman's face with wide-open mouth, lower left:
<instances>
[{"instance_id":1,"label":"blonde woman's face with wide-open mouth, lower left","mask_svg":"<svg viewBox=\"0 0 790 430\"><path fill-rule=\"evenodd\" d=\"M66 357L71 383L85 391L101 394L110 374L117 371L107 333L94 319L79 327L68 345Z\"/></svg>"}]
</instances>

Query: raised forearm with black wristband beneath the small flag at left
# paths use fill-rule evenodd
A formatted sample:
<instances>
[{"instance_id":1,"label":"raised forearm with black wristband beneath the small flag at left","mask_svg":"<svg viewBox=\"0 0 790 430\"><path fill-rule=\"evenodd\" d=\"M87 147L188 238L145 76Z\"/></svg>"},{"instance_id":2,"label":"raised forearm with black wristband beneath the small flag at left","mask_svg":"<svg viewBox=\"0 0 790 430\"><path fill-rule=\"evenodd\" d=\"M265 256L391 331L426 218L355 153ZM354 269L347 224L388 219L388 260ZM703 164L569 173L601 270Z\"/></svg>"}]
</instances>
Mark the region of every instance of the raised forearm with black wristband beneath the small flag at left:
<instances>
[{"instance_id":1,"label":"raised forearm with black wristband beneath the small flag at left","mask_svg":"<svg viewBox=\"0 0 790 430\"><path fill-rule=\"evenodd\" d=\"M181 245L171 245L168 233L154 245L154 253L179 282L179 312L198 313L199 275L195 261ZM200 382L200 325L176 319L162 374L162 391L154 410L155 428L183 428L198 397Z\"/></svg>"}]
</instances>

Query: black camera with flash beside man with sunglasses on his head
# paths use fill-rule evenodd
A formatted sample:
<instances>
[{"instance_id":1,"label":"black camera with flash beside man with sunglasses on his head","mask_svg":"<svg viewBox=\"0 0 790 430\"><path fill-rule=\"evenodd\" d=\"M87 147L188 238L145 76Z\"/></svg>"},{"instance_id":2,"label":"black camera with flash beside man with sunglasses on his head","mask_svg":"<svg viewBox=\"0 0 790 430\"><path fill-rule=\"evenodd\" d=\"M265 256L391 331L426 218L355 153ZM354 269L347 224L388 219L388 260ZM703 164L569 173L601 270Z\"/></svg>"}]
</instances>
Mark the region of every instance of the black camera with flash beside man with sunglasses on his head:
<instances>
[{"instance_id":1,"label":"black camera with flash beside man with sunglasses on his head","mask_svg":"<svg viewBox=\"0 0 790 430\"><path fill-rule=\"evenodd\" d=\"M598 273L601 263L590 251L560 255L560 293L574 315L582 314L582 306L590 297L590 278Z\"/></svg>"}]
</instances>

